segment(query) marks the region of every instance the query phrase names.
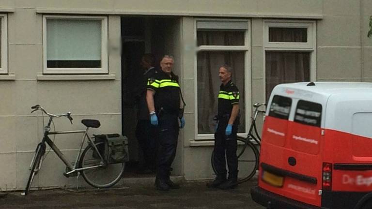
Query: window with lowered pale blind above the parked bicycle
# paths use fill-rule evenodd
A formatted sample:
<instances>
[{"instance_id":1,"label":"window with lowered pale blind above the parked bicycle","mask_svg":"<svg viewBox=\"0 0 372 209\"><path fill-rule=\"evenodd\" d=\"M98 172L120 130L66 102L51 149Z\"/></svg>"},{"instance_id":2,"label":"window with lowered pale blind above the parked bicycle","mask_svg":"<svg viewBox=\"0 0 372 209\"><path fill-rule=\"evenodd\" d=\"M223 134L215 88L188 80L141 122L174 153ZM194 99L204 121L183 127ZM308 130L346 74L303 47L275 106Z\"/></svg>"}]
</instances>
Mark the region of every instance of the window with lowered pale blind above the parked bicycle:
<instances>
[{"instance_id":1,"label":"window with lowered pale blind above the parked bicycle","mask_svg":"<svg viewBox=\"0 0 372 209\"><path fill-rule=\"evenodd\" d=\"M107 17L44 16L45 74L106 74Z\"/></svg>"}]
</instances>

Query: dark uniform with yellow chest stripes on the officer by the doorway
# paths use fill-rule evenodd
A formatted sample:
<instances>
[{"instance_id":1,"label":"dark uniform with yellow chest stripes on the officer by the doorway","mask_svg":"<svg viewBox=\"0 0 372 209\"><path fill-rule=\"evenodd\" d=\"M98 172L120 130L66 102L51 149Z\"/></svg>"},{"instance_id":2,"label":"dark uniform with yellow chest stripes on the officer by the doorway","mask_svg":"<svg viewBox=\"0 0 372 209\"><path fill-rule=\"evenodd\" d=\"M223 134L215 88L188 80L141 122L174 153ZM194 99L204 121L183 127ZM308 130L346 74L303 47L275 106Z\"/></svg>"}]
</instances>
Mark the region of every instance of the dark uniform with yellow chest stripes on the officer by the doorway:
<instances>
[{"instance_id":1,"label":"dark uniform with yellow chest stripes on the officer by the doorway","mask_svg":"<svg viewBox=\"0 0 372 209\"><path fill-rule=\"evenodd\" d=\"M178 77L173 73L169 76L159 70L154 77L149 78L147 89L155 91L155 112L159 120L156 178L166 180L170 178L179 133L180 86Z\"/></svg>"}]
</instances>

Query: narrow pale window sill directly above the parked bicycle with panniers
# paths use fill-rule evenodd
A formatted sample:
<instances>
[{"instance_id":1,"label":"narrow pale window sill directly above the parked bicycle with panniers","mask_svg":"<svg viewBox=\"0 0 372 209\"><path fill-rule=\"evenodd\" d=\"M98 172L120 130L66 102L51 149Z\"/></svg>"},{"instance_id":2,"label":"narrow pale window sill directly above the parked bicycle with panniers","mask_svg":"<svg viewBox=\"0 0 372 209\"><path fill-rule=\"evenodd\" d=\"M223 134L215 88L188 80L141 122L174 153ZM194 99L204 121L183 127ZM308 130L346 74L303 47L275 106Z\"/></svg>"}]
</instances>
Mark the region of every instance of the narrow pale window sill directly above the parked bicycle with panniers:
<instances>
[{"instance_id":1,"label":"narrow pale window sill directly above the parked bicycle with panniers","mask_svg":"<svg viewBox=\"0 0 372 209\"><path fill-rule=\"evenodd\" d=\"M109 75L37 75L37 80L115 80L115 74Z\"/></svg>"}]
</instances>

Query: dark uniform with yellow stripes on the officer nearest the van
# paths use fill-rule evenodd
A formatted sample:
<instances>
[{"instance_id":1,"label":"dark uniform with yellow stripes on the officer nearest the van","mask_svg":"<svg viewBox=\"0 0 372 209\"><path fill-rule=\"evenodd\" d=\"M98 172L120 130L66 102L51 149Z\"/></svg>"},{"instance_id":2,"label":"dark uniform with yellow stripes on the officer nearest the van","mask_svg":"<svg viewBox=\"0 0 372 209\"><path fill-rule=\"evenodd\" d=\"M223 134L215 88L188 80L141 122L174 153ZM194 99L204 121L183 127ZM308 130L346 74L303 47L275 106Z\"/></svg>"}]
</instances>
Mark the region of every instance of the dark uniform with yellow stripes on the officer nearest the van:
<instances>
[{"instance_id":1,"label":"dark uniform with yellow stripes on the officer nearest the van","mask_svg":"<svg viewBox=\"0 0 372 209\"><path fill-rule=\"evenodd\" d=\"M233 124L232 134L225 135L226 126L229 122L233 104L239 104L239 90L230 80L225 86L221 84L218 93L218 127L215 134L214 163L216 165L217 177L226 178L226 163L229 168L229 179L237 179L238 159L236 156L236 133L239 125L239 117L236 117Z\"/></svg>"}]
</instances>

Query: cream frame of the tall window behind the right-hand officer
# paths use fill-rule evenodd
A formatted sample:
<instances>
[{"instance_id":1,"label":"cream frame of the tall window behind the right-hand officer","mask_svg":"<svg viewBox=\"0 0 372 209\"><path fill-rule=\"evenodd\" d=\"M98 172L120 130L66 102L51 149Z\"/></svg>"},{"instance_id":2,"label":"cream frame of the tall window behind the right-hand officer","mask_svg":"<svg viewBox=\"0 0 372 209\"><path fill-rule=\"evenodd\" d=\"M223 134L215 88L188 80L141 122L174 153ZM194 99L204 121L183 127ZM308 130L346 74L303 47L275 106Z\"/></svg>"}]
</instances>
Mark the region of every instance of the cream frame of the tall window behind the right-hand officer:
<instances>
[{"instance_id":1,"label":"cream frame of the tall window behind the right-hand officer","mask_svg":"<svg viewBox=\"0 0 372 209\"><path fill-rule=\"evenodd\" d=\"M197 32L198 30L240 30L245 31L244 45L200 45L197 46ZM196 45L194 63L194 127L195 127L195 140L212 140L215 138L214 134L199 134L198 130L198 52L201 51L235 51L245 52L244 58L244 85L245 85L245 133L239 133L238 135L247 137L248 129L250 125L251 115L251 20L250 19L207 19L207 18L196 18L194 20L194 43ZM241 105L242 103L240 103ZM212 122L212 121L211 121Z\"/></svg>"}]
</instances>

